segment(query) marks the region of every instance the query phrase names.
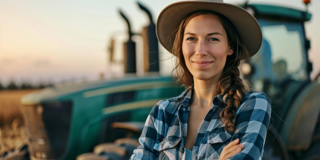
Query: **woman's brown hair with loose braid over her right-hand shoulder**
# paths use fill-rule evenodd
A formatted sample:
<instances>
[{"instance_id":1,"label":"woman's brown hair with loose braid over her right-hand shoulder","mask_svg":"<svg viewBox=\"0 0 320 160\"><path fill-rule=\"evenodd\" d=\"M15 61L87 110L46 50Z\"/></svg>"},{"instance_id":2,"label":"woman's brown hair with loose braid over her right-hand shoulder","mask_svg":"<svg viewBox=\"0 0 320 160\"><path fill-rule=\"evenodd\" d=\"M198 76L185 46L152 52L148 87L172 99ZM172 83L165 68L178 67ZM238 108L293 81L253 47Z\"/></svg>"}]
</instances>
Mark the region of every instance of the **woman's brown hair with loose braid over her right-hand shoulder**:
<instances>
[{"instance_id":1,"label":"woman's brown hair with loose braid over her right-hand shoulder","mask_svg":"<svg viewBox=\"0 0 320 160\"><path fill-rule=\"evenodd\" d=\"M219 14L217 14L219 15ZM236 111L248 91L248 85L240 78L240 59L249 57L248 51L240 40L234 25L223 15L219 15L221 24L228 37L228 43L234 53L227 57L223 73L216 86L216 93L223 97L224 109L220 112L220 119L225 124L225 130L235 131Z\"/></svg>"}]
</instances>

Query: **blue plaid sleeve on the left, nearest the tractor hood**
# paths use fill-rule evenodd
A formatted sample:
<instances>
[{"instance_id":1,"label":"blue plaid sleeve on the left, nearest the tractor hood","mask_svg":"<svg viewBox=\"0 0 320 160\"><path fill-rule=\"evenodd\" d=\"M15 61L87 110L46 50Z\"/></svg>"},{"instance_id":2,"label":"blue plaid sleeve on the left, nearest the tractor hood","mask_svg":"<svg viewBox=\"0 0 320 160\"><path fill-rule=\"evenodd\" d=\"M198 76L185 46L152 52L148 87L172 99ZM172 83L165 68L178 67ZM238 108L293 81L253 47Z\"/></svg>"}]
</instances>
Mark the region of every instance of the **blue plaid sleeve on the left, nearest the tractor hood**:
<instances>
[{"instance_id":1,"label":"blue plaid sleeve on the left, nearest the tractor hood","mask_svg":"<svg viewBox=\"0 0 320 160\"><path fill-rule=\"evenodd\" d=\"M161 102L162 101L159 101L150 111L139 138L140 146L133 151L130 159L154 160L158 157L158 151L154 150L153 147L158 134L155 123L158 123L156 121L158 121L157 116Z\"/></svg>"}]
</instances>

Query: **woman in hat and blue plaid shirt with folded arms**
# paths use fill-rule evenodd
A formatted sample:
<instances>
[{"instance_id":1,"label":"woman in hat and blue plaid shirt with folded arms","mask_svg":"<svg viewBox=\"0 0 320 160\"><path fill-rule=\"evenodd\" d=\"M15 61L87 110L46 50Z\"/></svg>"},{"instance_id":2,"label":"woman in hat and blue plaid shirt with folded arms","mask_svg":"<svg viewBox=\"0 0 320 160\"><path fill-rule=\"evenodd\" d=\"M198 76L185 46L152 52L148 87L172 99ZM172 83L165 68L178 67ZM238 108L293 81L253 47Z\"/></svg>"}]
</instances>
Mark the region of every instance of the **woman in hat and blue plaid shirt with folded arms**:
<instances>
[{"instance_id":1,"label":"woman in hat and blue plaid shirt with folded arms","mask_svg":"<svg viewBox=\"0 0 320 160\"><path fill-rule=\"evenodd\" d=\"M152 108L130 159L261 159L270 102L238 69L261 46L256 19L222 1L185 1L159 14L156 32L187 89Z\"/></svg>"}]
</instances>

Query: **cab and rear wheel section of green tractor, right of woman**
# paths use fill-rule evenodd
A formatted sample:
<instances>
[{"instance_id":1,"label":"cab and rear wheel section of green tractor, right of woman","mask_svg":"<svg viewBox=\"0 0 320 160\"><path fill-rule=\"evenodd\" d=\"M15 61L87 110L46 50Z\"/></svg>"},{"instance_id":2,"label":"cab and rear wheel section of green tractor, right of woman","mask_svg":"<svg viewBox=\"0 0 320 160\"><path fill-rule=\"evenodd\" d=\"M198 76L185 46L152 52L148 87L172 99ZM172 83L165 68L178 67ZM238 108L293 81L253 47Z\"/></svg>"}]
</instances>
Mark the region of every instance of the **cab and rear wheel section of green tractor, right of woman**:
<instances>
[{"instance_id":1,"label":"cab and rear wheel section of green tractor, right of woman","mask_svg":"<svg viewBox=\"0 0 320 160\"><path fill-rule=\"evenodd\" d=\"M263 159L320 159L320 84L310 80L311 14L292 8L245 4L263 33L260 51L242 64L254 89L271 99L271 124Z\"/></svg>"}]
</instances>

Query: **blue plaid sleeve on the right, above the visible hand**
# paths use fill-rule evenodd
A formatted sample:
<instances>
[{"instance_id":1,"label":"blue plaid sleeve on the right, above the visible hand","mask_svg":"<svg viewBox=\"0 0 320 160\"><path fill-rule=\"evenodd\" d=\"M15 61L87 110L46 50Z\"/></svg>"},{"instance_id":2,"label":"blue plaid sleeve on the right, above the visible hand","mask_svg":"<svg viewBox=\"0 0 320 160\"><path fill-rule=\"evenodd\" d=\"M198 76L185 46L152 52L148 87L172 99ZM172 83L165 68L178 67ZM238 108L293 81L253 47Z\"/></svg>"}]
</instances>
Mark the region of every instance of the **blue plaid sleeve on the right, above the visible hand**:
<instances>
[{"instance_id":1,"label":"blue plaid sleeve on the right, above the visible hand","mask_svg":"<svg viewBox=\"0 0 320 160\"><path fill-rule=\"evenodd\" d=\"M271 104L263 93L252 93L236 113L236 131L233 140L239 139L244 149L230 159L262 159L263 147L270 122Z\"/></svg>"}]
</instances>

